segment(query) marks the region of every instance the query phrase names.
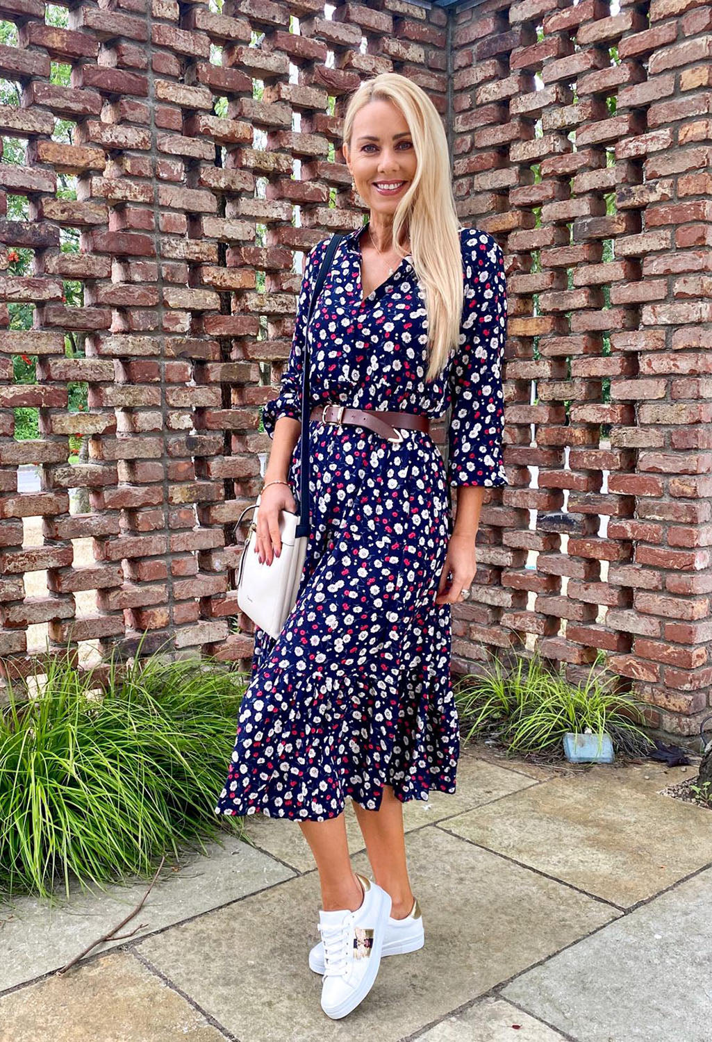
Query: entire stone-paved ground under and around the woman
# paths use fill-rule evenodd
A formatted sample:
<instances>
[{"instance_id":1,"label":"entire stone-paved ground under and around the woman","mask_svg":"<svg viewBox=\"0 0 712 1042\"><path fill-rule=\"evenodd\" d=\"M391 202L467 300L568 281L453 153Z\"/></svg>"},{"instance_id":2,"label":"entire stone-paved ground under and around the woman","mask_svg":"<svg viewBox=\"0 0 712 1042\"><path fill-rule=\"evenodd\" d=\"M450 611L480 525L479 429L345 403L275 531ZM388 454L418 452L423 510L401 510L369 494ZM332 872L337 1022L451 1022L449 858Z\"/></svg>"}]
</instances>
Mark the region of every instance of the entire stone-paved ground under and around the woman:
<instances>
[{"instance_id":1,"label":"entire stone-paved ground under and around the woman","mask_svg":"<svg viewBox=\"0 0 712 1042\"><path fill-rule=\"evenodd\" d=\"M64 976L146 883L0 905L0 1042L709 1042L712 817L660 794L694 771L468 749L457 795L406 808L425 947L342 1021L306 964L319 890L293 822L166 865L141 928Z\"/></svg>"}]
</instances>

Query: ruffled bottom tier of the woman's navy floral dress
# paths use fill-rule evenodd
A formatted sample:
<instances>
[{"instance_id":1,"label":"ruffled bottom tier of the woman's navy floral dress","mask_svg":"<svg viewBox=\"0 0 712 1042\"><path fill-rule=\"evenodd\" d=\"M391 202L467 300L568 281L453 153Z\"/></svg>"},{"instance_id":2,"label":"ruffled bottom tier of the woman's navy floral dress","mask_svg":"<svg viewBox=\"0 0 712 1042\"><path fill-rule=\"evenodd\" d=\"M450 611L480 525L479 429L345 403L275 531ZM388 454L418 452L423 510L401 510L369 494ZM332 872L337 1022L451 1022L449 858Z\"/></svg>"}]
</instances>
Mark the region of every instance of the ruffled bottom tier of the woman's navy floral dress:
<instances>
[{"instance_id":1,"label":"ruffled bottom tier of the woman's navy floral dress","mask_svg":"<svg viewBox=\"0 0 712 1042\"><path fill-rule=\"evenodd\" d=\"M325 821L349 798L378 810L387 785L401 802L426 800L431 791L455 793L460 733L449 671L443 679L437 665L414 664L403 632L393 635L368 673L347 674L335 660L305 675L270 667L264 650L264 672L255 670L243 699L216 815ZM411 656L408 668L398 642Z\"/></svg>"}]
</instances>

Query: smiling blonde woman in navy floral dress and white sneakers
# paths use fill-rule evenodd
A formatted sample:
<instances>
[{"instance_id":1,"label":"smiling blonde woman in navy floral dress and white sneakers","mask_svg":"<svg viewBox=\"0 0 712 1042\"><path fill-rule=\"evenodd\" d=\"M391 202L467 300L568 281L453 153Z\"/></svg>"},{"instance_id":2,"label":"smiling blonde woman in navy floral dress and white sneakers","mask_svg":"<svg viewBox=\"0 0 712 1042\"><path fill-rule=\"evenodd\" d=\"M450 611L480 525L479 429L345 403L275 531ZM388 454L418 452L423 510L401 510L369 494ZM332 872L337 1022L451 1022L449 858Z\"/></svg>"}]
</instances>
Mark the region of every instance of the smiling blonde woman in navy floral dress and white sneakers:
<instances>
[{"instance_id":1,"label":"smiling blonde woman in navy floral dress and white sneakers","mask_svg":"<svg viewBox=\"0 0 712 1042\"><path fill-rule=\"evenodd\" d=\"M402 804L456 789L451 605L475 574L483 488L508 483L502 253L459 225L440 116L407 77L376 76L349 100L343 152L368 219L339 244L306 329L328 240L309 253L280 393L263 410L273 444L256 525L269 565L279 512L296 510L309 337L304 575L279 637L255 632L216 807L299 823L322 899L309 961L335 1019L368 994L382 956L424 943ZM445 463L429 423L448 406ZM351 868L349 798L373 879Z\"/></svg>"}]
</instances>

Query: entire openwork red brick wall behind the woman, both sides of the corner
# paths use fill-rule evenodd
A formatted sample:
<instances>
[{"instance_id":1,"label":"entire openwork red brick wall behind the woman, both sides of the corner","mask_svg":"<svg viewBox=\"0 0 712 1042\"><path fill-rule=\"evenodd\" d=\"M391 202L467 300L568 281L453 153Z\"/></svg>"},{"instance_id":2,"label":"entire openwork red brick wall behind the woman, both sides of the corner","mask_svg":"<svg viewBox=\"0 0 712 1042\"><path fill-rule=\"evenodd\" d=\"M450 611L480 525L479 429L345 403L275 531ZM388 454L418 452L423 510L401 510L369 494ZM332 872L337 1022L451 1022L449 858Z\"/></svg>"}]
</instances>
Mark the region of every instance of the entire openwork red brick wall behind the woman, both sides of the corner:
<instances>
[{"instance_id":1,"label":"entire openwork red brick wall behind the woman, both sides of the corner","mask_svg":"<svg viewBox=\"0 0 712 1042\"><path fill-rule=\"evenodd\" d=\"M346 101L393 69L441 111L462 222L508 262L511 485L488 494L453 668L536 644L578 678L603 649L654 726L694 733L709 6L0 0L0 21L3 668L144 632L248 668L227 577L259 406L304 252L361 223Z\"/></svg>"}]
</instances>

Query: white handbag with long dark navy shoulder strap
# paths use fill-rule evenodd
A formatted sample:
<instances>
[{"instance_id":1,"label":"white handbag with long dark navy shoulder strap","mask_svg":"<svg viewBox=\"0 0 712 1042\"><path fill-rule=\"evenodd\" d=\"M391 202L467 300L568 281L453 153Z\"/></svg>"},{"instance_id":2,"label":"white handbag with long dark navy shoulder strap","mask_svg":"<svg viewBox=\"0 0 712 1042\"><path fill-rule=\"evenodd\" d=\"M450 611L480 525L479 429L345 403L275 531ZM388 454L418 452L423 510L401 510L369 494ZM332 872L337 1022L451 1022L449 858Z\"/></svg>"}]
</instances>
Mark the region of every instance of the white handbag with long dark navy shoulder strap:
<instances>
[{"instance_id":1,"label":"white handbag with long dark navy shoulder strap","mask_svg":"<svg viewBox=\"0 0 712 1042\"><path fill-rule=\"evenodd\" d=\"M324 253L310 302L306 328L314 311L314 303L321 292L326 272L332 266L334 254L343 235L334 235ZM298 497L298 513L283 510L279 512L279 538L281 550L279 556L272 556L272 563L260 564L260 555L255 553L256 522L250 522L245 545L237 569L236 588L238 606L245 615L267 630L270 637L276 638L294 607L299 592L299 585L304 570L306 545L310 531L310 488L309 488L309 338L304 337L304 358L301 383L301 492ZM235 526L237 534L240 523L248 511L259 510L262 493L254 503L246 506L238 518Z\"/></svg>"}]
</instances>

